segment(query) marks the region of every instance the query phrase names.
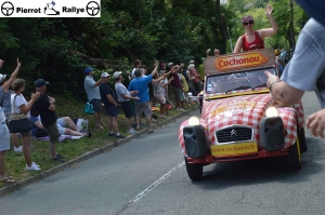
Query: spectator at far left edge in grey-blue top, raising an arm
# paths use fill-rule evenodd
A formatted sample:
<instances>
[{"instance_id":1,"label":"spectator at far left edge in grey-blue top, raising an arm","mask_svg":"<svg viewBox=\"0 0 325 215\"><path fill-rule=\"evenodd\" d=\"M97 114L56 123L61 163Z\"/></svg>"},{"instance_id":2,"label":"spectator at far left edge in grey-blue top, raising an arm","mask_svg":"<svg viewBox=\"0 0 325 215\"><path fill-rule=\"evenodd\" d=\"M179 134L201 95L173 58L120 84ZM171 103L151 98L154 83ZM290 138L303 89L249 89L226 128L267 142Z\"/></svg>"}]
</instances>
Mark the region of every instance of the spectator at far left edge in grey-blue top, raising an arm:
<instances>
[{"instance_id":1,"label":"spectator at far left edge in grey-blue top, raising an arm","mask_svg":"<svg viewBox=\"0 0 325 215\"><path fill-rule=\"evenodd\" d=\"M0 59L0 68L2 67L4 61ZM6 80L6 75L0 73L0 90L2 91L1 93L1 98L0 103L2 105L2 109L5 116L6 122L9 122L9 117L11 115L11 94L12 91L10 90L10 86L12 85L12 82L16 79L17 73L20 71L22 63L17 58L17 67L16 69L12 72L10 78ZM23 147L20 146L20 140L18 140L18 135L15 133L11 134L12 137L12 143L14 144L13 150L16 152L21 152L23 150Z\"/></svg>"}]
</instances>

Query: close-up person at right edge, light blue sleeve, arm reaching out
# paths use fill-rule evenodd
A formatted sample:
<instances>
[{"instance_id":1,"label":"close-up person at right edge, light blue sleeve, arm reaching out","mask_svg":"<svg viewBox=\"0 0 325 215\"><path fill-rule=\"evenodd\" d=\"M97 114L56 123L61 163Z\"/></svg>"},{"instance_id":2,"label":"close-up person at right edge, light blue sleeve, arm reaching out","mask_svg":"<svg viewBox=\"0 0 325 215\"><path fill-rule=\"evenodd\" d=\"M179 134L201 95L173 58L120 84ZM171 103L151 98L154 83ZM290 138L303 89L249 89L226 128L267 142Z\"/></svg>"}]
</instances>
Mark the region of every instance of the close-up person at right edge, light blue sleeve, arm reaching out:
<instances>
[{"instance_id":1,"label":"close-up person at right edge, light blue sleeve, arm reaching out","mask_svg":"<svg viewBox=\"0 0 325 215\"><path fill-rule=\"evenodd\" d=\"M309 116L306 124L314 136L322 138L325 138L325 58L320 56L324 55L325 25L310 18L299 33L294 56L281 80L265 71L269 77L266 84L273 98L280 103L291 105L301 99L304 91L315 91L323 109Z\"/></svg>"}]
</instances>

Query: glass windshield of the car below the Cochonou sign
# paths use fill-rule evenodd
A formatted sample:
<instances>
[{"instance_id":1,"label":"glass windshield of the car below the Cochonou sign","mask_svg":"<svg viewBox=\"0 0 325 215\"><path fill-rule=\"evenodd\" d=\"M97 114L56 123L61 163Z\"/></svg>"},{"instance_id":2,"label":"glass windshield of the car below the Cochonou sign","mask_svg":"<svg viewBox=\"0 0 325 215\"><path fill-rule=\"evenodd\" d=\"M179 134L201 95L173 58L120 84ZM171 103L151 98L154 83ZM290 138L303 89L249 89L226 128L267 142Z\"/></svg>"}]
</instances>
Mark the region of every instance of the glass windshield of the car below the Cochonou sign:
<instances>
[{"instance_id":1,"label":"glass windshield of the car below the Cochonou sign","mask_svg":"<svg viewBox=\"0 0 325 215\"><path fill-rule=\"evenodd\" d=\"M231 91L255 90L257 88L266 86L268 77L264 71L276 75L275 68L263 68L240 72L229 72L221 75L211 75L206 79L206 93L227 93Z\"/></svg>"}]
</instances>

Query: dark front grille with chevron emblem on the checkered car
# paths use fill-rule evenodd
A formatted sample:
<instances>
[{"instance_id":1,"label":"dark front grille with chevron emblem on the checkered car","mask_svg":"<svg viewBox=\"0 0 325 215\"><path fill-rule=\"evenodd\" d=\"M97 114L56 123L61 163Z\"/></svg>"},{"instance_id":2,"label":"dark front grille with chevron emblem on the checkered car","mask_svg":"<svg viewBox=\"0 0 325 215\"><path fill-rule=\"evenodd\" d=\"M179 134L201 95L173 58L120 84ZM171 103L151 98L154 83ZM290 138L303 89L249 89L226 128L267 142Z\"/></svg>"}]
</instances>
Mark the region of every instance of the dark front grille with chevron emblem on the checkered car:
<instances>
[{"instance_id":1,"label":"dark front grille with chevron emblem on the checkered car","mask_svg":"<svg viewBox=\"0 0 325 215\"><path fill-rule=\"evenodd\" d=\"M216 132L219 144L230 142L247 142L252 139L252 129L244 126L230 126Z\"/></svg>"}]
</instances>

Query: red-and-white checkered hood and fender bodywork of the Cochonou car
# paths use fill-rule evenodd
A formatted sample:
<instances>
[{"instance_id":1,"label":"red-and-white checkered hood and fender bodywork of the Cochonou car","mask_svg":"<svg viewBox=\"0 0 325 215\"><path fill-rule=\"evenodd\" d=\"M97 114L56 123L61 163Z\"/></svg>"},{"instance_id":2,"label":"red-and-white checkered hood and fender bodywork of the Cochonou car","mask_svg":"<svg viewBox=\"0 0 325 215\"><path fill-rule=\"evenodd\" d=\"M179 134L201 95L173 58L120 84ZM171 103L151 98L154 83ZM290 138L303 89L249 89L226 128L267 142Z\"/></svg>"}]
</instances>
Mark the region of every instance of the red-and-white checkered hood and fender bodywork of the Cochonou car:
<instances>
[{"instance_id":1,"label":"red-and-white checkered hood and fender bodywork of the Cochonou car","mask_svg":"<svg viewBox=\"0 0 325 215\"><path fill-rule=\"evenodd\" d=\"M218 129L229 125L247 125L255 129L255 139L259 144L259 122L264 117L266 108L275 106L271 94L252 94L220 99L204 100L200 123L207 127L206 135L209 145L216 143L214 132ZM303 126L303 108L301 102L294 107L275 106L283 119L284 129L287 131L285 147L291 146L297 137L297 122ZM301 118L301 120L300 120ZM183 154L185 156L185 145L183 127L187 125L187 120L180 125L179 140Z\"/></svg>"}]
</instances>

